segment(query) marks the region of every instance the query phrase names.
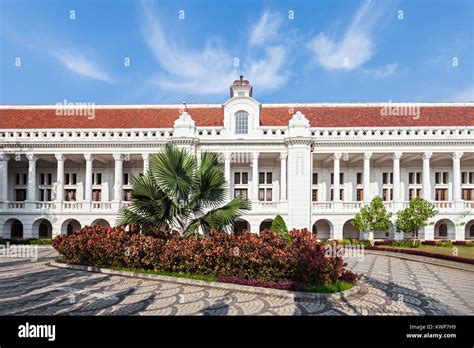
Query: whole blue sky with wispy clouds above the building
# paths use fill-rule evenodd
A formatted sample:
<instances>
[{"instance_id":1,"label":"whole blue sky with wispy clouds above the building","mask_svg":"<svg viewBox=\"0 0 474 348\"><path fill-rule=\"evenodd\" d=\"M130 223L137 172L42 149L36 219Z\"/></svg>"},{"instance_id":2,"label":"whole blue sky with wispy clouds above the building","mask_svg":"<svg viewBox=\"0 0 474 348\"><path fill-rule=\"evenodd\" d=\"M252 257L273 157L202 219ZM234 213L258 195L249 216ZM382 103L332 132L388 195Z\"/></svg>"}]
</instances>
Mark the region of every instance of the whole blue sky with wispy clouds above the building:
<instances>
[{"instance_id":1,"label":"whole blue sky with wispy clouds above the building","mask_svg":"<svg viewBox=\"0 0 474 348\"><path fill-rule=\"evenodd\" d=\"M2 0L0 13L1 104L222 103L241 72L267 103L474 101L471 0Z\"/></svg>"}]
</instances>

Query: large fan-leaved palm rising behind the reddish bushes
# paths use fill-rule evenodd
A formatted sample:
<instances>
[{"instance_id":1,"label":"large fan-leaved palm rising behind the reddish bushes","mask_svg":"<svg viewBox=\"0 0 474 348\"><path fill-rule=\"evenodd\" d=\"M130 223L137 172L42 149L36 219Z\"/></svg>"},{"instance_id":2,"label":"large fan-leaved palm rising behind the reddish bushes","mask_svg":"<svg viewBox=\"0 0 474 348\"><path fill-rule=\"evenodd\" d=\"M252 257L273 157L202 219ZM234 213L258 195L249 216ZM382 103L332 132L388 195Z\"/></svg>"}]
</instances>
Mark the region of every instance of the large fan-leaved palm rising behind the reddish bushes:
<instances>
[{"instance_id":1,"label":"large fan-leaved palm rising behind the reddish bushes","mask_svg":"<svg viewBox=\"0 0 474 348\"><path fill-rule=\"evenodd\" d=\"M226 203L224 166L215 153L203 153L198 164L194 155L168 144L150 158L148 172L131 183L131 205L120 210L119 226L136 223L144 231L208 234L211 229L229 229L250 209L241 196Z\"/></svg>"}]
</instances>

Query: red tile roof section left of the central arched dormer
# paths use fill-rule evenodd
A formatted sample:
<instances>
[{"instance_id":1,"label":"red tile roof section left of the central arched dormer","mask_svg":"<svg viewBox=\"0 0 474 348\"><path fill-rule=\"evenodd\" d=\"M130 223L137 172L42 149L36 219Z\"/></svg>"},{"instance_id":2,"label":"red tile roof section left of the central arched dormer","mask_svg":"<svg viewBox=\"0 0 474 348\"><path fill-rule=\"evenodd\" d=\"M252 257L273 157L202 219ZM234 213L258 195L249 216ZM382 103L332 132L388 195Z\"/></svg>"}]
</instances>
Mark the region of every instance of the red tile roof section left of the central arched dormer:
<instances>
[{"instance_id":1,"label":"red tile roof section left of the central arched dormer","mask_svg":"<svg viewBox=\"0 0 474 348\"><path fill-rule=\"evenodd\" d=\"M196 126L222 126L222 108L188 108ZM0 109L0 129L172 128L179 108L96 109L94 118L58 116L55 109Z\"/></svg>"}]
</instances>

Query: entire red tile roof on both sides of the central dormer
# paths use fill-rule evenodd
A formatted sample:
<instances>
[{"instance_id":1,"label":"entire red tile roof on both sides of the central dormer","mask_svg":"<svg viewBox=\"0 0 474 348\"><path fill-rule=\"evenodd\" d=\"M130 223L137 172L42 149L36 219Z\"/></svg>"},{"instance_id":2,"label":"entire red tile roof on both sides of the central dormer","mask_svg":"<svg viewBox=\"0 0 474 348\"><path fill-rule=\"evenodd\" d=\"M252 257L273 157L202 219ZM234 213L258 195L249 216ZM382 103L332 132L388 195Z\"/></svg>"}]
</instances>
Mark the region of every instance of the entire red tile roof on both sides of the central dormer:
<instances>
[{"instance_id":1,"label":"entire red tile roof on both sides of the central dormer","mask_svg":"<svg viewBox=\"0 0 474 348\"><path fill-rule=\"evenodd\" d=\"M392 105L393 107L393 105ZM222 126L223 108L188 107L197 126ZM381 106L265 107L262 126L286 126L300 111L312 127L474 126L474 106L422 106L420 117L383 116ZM179 108L97 108L95 117L57 116L55 109L0 109L0 129L171 128Z\"/></svg>"}]
</instances>

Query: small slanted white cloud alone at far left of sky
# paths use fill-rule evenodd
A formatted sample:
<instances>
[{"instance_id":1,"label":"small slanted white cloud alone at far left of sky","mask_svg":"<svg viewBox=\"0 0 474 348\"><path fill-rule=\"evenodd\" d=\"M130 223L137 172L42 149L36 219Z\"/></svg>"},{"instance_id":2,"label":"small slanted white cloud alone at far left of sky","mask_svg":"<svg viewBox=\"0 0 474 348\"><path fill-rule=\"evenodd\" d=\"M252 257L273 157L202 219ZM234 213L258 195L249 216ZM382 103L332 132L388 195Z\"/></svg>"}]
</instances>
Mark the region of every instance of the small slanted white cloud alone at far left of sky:
<instances>
[{"instance_id":1,"label":"small slanted white cloud alone at far left of sky","mask_svg":"<svg viewBox=\"0 0 474 348\"><path fill-rule=\"evenodd\" d=\"M95 80L111 82L111 78L95 62L78 54L52 51L51 54L72 72Z\"/></svg>"}]
</instances>

